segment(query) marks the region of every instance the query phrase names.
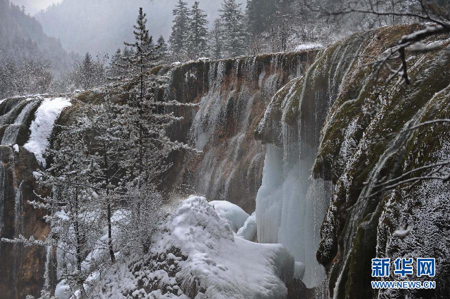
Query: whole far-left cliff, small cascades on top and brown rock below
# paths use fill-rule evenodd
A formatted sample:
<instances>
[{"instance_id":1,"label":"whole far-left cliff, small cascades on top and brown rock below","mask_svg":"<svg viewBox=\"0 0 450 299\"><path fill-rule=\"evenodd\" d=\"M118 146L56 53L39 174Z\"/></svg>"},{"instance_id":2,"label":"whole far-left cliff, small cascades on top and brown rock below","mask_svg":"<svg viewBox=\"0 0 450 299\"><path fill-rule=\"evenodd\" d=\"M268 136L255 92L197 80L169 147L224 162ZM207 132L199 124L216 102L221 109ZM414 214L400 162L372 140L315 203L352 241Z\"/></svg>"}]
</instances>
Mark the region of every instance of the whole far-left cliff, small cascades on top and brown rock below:
<instances>
[{"instance_id":1,"label":"whole far-left cliff, small cascades on top and brown rock below","mask_svg":"<svg viewBox=\"0 0 450 299\"><path fill-rule=\"evenodd\" d=\"M43 239L49 232L42 219L45 213L27 203L35 199L33 190L37 186L32 172L39 166L35 156L22 146L28 140L27 128L39 103L39 99L27 102L20 98L0 103L2 144L18 145L18 151L9 145L0 146L0 236L4 238L22 235ZM15 123L18 117L21 123ZM54 281L46 280L43 275L48 269L46 255L46 248L0 241L0 297L24 298L26 294L40 294L45 283Z\"/></svg>"}]
</instances>

